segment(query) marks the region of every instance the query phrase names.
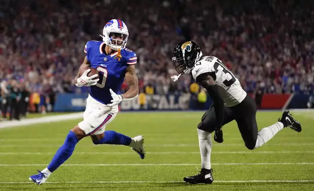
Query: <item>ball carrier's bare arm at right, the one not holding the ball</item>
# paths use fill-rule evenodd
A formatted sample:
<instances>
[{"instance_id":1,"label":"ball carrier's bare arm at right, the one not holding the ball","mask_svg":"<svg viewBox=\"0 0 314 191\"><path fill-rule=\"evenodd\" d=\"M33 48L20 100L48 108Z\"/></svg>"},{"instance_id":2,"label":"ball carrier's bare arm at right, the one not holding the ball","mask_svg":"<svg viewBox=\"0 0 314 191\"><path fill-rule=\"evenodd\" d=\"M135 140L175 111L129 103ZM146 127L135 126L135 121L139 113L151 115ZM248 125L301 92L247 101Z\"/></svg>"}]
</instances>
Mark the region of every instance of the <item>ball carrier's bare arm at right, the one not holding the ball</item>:
<instances>
[{"instance_id":1,"label":"ball carrier's bare arm at right, the one not holding the ball","mask_svg":"<svg viewBox=\"0 0 314 191\"><path fill-rule=\"evenodd\" d=\"M138 95L138 79L135 72L135 66L131 65L126 68L125 80L129 84L130 89L122 94L124 99L133 98Z\"/></svg>"}]
</instances>

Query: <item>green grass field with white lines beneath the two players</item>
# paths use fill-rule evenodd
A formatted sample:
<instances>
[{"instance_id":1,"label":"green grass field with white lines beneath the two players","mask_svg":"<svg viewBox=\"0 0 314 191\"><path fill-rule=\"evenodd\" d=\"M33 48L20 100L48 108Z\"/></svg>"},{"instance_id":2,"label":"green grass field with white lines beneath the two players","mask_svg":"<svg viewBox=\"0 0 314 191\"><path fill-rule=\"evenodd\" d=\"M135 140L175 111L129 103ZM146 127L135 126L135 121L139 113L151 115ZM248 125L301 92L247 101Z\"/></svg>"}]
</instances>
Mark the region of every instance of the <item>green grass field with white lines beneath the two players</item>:
<instances>
[{"instance_id":1,"label":"green grass field with white lines beneath the two players","mask_svg":"<svg viewBox=\"0 0 314 191\"><path fill-rule=\"evenodd\" d=\"M313 113L293 113L303 131L283 129L255 151L246 149L235 122L224 126L224 142L213 139L214 183L184 183L184 176L200 168L196 126L202 114L120 113L106 129L144 135L144 160L129 147L93 145L86 137L41 186L29 182L28 176L47 166L80 120L0 129L0 191L314 190ZM280 112L259 112L259 129L280 116Z\"/></svg>"}]
</instances>

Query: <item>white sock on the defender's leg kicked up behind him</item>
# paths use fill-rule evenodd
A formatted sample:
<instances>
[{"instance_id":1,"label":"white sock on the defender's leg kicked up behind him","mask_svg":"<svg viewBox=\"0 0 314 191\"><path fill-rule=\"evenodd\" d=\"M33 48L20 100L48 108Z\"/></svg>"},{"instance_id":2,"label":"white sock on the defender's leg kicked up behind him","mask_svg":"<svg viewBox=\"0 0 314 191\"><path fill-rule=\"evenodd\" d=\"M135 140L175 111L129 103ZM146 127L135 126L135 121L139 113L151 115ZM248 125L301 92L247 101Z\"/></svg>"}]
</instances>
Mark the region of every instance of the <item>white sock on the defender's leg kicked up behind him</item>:
<instances>
[{"instance_id":1,"label":"white sock on the defender's leg kicked up behind him","mask_svg":"<svg viewBox=\"0 0 314 191\"><path fill-rule=\"evenodd\" d=\"M269 127L265 127L261 129L257 134L257 140L255 144L255 148L258 148L264 145L267 141L269 141L276 133L283 129L283 124L281 122L277 122L274 125Z\"/></svg>"}]
</instances>

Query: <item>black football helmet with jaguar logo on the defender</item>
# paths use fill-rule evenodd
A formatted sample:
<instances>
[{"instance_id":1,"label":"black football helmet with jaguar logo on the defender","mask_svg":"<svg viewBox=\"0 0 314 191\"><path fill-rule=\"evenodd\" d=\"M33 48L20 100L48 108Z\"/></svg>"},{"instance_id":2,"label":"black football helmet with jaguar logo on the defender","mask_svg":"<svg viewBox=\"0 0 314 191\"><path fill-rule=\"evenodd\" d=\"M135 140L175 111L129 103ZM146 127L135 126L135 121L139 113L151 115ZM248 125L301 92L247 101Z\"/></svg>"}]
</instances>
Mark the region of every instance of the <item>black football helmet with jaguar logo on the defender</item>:
<instances>
[{"instance_id":1,"label":"black football helmet with jaguar logo on the defender","mask_svg":"<svg viewBox=\"0 0 314 191\"><path fill-rule=\"evenodd\" d=\"M173 52L172 61L179 74L188 73L202 56L198 44L194 41L179 42Z\"/></svg>"}]
</instances>

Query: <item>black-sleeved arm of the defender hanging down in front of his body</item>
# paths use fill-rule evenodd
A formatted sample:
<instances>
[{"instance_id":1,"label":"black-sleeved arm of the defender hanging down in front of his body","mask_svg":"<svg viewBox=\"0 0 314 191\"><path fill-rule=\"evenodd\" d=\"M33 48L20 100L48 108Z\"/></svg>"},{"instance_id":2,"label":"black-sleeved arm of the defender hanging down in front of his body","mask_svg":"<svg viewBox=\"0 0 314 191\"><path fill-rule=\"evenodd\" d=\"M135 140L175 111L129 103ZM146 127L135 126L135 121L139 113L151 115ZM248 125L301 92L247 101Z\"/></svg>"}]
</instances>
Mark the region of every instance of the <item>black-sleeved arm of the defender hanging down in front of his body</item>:
<instances>
[{"instance_id":1,"label":"black-sleeved arm of the defender hanging down in front of his body","mask_svg":"<svg viewBox=\"0 0 314 191\"><path fill-rule=\"evenodd\" d=\"M224 101L218 92L218 85L212 76L208 73L201 74L196 77L196 81L199 85L206 89L209 96L213 99L213 104L216 113L217 127L216 130L220 130L223 124L224 115Z\"/></svg>"}]
</instances>

